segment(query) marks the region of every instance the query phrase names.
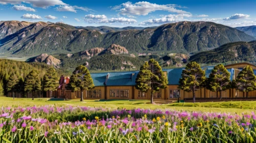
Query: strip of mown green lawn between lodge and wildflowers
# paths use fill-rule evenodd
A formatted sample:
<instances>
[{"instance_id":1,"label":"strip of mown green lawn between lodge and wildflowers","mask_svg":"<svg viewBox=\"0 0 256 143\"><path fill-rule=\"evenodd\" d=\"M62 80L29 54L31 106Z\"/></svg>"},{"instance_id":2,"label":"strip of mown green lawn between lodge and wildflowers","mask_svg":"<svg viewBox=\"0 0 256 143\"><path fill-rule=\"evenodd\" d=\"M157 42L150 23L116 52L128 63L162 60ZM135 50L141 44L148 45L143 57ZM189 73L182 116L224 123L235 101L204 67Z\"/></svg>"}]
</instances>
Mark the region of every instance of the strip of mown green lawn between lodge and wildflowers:
<instances>
[{"instance_id":1,"label":"strip of mown green lawn between lodge and wildflowers","mask_svg":"<svg viewBox=\"0 0 256 143\"><path fill-rule=\"evenodd\" d=\"M204 112L230 112L230 113L251 113L256 109L256 101L229 101L229 102L206 102L206 103L172 103L172 104L149 104L149 100L116 100L116 101L98 101L79 99L69 101L47 101L47 98L12 98L0 97L2 106L33 106L33 105L72 105L72 106L91 106L91 107L111 107L111 108L150 108L150 109L175 109L186 111L204 111Z\"/></svg>"}]
</instances>

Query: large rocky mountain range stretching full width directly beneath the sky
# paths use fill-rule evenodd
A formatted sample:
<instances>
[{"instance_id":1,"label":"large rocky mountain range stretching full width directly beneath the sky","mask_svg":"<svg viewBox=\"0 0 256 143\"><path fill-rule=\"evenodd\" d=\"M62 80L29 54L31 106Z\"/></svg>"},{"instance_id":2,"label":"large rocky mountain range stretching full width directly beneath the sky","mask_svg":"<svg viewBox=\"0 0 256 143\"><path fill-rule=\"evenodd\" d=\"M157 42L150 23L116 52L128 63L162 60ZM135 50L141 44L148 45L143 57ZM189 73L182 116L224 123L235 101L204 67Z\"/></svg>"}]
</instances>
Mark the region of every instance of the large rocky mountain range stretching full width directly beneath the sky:
<instances>
[{"instance_id":1,"label":"large rocky mountain range stretching full width directly beneath the sky","mask_svg":"<svg viewBox=\"0 0 256 143\"><path fill-rule=\"evenodd\" d=\"M230 42L255 40L253 36L236 28L202 21L182 21L143 30L126 27L129 30L108 33L60 22L0 23L0 52L11 56L68 54L95 47L108 48L112 44L123 46L134 54L144 51L189 53L216 48Z\"/></svg>"}]
</instances>

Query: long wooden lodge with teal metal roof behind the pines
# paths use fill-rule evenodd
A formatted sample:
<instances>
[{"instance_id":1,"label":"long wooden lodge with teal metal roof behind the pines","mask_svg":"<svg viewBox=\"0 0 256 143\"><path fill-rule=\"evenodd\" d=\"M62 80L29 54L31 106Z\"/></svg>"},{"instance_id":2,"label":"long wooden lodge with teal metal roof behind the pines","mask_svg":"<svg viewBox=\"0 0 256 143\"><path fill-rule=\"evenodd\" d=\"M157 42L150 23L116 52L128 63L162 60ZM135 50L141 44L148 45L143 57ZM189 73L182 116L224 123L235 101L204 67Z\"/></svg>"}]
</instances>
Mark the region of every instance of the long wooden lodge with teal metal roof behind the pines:
<instances>
[{"instance_id":1,"label":"long wooden lodge with teal metal roof behind the pines","mask_svg":"<svg viewBox=\"0 0 256 143\"><path fill-rule=\"evenodd\" d=\"M256 74L256 66L250 63L238 63L226 65L225 68L230 73L230 80L236 79L238 73L245 67L251 66ZM163 69L167 77L168 85L165 89L160 89L154 94L154 99L157 100L185 100L193 98L192 93L178 89L179 79L184 68ZM205 70L206 77L209 76L214 66L202 67ZM140 92L135 88L135 80L139 71L129 72L106 72L106 73L91 73L95 88L83 92L84 99L150 99L150 91L147 93ZM60 77L60 85L58 90L53 92L53 96L57 98L76 99L81 97L81 93L71 92L66 90L69 83L69 77ZM225 100L241 100L245 98L246 93L229 89L222 92L222 98ZM49 92L47 93L49 97ZM256 91L249 92L249 99L256 99ZM219 99L218 92L211 92L205 88L196 91L196 100ZM248 98L247 98L248 99Z\"/></svg>"}]
</instances>

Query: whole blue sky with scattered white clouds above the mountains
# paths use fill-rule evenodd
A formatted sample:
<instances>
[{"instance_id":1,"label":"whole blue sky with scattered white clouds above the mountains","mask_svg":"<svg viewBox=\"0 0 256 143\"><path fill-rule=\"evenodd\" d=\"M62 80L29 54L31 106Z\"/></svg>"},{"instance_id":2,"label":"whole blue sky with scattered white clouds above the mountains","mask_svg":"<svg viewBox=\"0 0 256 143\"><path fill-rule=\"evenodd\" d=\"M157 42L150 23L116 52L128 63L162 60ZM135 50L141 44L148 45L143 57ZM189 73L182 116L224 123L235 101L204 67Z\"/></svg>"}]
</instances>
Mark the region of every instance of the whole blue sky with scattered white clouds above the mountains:
<instances>
[{"instance_id":1,"label":"whole blue sky with scattered white clouds above the mountains","mask_svg":"<svg viewBox=\"0 0 256 143\"><path fill-rule=\"evenodd\" d=\"M212 21L238 27L256 25L256 0L0 0L0 21L6 20L113 27Z\"/></svg>"}]
</instances>

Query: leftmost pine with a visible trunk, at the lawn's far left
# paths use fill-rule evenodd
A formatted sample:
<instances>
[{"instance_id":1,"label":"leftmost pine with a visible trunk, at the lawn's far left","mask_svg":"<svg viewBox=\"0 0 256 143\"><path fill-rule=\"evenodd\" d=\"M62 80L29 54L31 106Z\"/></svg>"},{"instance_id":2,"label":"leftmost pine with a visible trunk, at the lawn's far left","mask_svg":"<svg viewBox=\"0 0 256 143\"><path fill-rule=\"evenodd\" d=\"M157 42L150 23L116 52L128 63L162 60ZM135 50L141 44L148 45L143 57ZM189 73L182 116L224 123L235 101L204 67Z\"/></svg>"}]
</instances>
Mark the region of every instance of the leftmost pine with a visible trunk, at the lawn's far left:
<instances>
[{"instance_id":1,"label":"leftmost pine with a visible trunk, at the lawn's far left","mask_svg":"<svg viewBox=\"0 0 256 143\"><path fill-rule=\"evenodd\" d=\"M7 92L12 92L13 99L14 99L14 94L16 94L18 90L17 85L18 85L18 77L16 74L13 73L11 74L6 85Z\"/></svg>"}]
</instances>

